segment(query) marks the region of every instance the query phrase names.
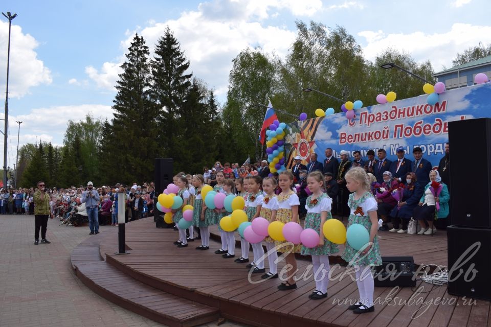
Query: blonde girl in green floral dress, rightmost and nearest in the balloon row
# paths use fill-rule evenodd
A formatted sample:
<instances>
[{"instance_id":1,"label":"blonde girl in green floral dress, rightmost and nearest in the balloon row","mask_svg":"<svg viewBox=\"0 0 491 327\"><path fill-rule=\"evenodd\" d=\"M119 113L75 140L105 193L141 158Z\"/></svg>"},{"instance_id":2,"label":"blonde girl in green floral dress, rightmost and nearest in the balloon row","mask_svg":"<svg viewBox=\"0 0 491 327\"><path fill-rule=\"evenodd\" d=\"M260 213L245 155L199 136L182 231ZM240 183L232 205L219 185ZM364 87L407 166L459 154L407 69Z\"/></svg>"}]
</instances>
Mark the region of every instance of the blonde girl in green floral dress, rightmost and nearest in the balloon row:
<instances>
[{"instance_id":1,"label":"blonde girl in green floral dress, rightmost and nearest in the balloon row","mask_svg":"<svg viewBox=\"0 0 491 327\"><path fill-rule=\"evenodd\" d=\"M348 227L352 224L362 224L370 233L370 242L359 251L346 242L342 258L348 265L354 266L356 285L360 293L360 301L349 306L354 313L374 311L373 307L373 276L371 266L382 265L380 248L377 241L377 202L370 192L370 183L363 168L352 168L345 176L346 187L351 192L348 206L351 210Z\"/></svg>"}]
</instances>

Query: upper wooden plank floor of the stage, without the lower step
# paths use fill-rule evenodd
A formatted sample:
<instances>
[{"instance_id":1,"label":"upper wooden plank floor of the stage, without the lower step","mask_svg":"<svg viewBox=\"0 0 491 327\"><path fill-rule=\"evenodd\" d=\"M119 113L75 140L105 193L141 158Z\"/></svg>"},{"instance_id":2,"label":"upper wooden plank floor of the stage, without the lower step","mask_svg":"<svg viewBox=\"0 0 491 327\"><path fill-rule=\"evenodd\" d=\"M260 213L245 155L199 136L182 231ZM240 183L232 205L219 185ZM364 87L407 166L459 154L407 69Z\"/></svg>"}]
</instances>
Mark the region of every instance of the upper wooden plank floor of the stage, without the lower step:
<instances>
[{"instance_id":1,"label":"upper wooden plank floor of the stage, without the lower step","mask_svg":"<svg viewBox=\"0 0 491 327\"><path fill-rule=\"evenodd\" d=\"M383 256L409 255L419 265L447 264L445 231L438 231L433 237L388 231L379 232L379 236ZM100 254L111 269L116 268L141 285L215 308L221 317L255 326L491 326L489 301L453 296L447 293L447 286L432 287L419 278L414 288L375 287L375 312L356 315L346 310L349 301L354 303L358 298L351 278L354 274L348 273L345 266L334 265L340 258L331 258L328 297L310 300L308 294L315 289L311 274L297 282L296 290L278 291L279 279L262 281L261 274L248 277L244 264L214 254L219 243L212 240L210 250L197 251L194 248L200 241L177 248L172 245L177 238L176 231L155 228L153 218L146 218L126 225L129 255L114 254L117 233L105 236ZM343 249L340 246L341 253ZM240 253L240 248L236 248L236 253ZM249 258L252 261L252 252ZM297 262L297 276L301 276L310 262ZM91 266L84 267L87 270ZM280 262L278 271L282 267ZM84 278L88 275L85 273Z\"/></svg>"}]
</instances>

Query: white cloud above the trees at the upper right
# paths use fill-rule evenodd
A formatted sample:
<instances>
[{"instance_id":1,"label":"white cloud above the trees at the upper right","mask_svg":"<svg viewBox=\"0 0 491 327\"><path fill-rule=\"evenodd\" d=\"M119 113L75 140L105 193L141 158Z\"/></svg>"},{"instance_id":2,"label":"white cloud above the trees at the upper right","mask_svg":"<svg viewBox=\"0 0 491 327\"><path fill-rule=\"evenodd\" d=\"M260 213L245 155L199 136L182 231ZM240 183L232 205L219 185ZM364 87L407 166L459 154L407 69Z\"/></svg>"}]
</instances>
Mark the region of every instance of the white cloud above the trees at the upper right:
<instances>
[{"instance_id":1,"label":"white cloud above the trees at the upper right","mask_svg":"<svg viewBox=\"0 0 491 327\"><path fill-rule=\"evenodd\" d=\"M358 33L365 38L363 46L365 57L374 60L378 53L387 48L410 53L418 62L430 60L436 72L443 66L452 66L452 59L471 46L482 40L489 39L491 26L476 26L456 23L448 32L424 33L413 32L409 34L390 33L379 31L363 31ZM362 42L363 43L363 42Z\"/></svg>"}]
</instances>

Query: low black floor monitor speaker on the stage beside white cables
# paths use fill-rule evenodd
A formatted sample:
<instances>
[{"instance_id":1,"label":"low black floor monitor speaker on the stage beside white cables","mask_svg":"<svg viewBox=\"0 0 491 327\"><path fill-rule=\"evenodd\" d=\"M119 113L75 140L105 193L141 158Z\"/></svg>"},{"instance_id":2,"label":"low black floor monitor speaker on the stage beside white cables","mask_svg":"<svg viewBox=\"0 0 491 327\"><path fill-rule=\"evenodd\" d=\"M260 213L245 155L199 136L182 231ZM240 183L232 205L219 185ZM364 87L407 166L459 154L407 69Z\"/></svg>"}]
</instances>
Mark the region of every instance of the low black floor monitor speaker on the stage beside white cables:
<instances>
[{"instance_id":1,"label":"low black floor monitor speaker on the stage beside white cables","mask_svg":"<svg viewBox=\"0 0 491 327\"><path fill-rule=\"evenodd\" d=\"M382 265L375 267L375 286L416 286L412 256L383 256Z\"/></svg>"}]
</instances>

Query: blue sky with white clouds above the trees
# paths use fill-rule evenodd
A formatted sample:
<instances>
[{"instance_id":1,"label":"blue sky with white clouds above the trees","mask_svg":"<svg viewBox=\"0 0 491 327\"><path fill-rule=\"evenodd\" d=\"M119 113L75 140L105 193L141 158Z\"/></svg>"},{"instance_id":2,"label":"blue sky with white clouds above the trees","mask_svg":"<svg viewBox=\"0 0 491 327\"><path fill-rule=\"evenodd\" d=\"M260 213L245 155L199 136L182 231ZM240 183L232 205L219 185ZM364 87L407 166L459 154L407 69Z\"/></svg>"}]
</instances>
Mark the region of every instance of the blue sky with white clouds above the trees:
<instances>
[{"instance_id":1,"label":"blue sky with white clouds above the trees","mask_svg":"<svg viewBox=\"0 0 491 327\"><path fill-rule=\"evenodd\" d=\"M255 45L284 57L296 19L346 27L368 60L391 46L418 61L430 59L439 71L457 52L491 43L490 9L485 0L3 1L1 11L18 14L11 39L9 165L15 162L15 120L24 122L22 145L40 138L62 144L66 122L87 112L110 118L119 65L135 32L152 50L169 24L192 72L224 101L231 60ZM8 23L2 18L4 96Z\"/></svg>"}]
</instances>

